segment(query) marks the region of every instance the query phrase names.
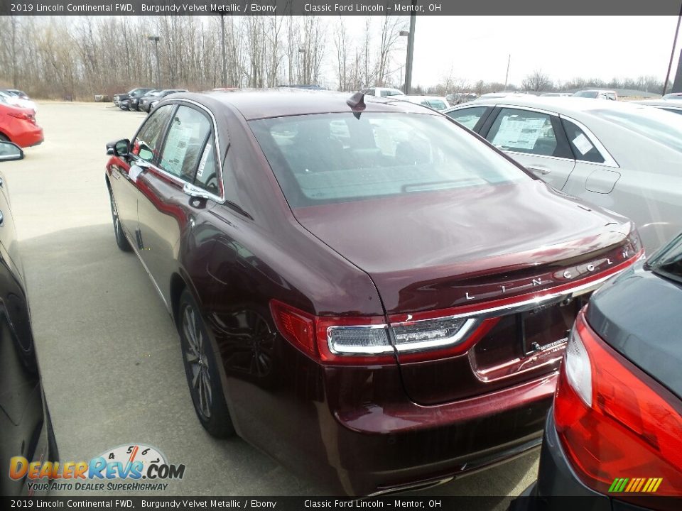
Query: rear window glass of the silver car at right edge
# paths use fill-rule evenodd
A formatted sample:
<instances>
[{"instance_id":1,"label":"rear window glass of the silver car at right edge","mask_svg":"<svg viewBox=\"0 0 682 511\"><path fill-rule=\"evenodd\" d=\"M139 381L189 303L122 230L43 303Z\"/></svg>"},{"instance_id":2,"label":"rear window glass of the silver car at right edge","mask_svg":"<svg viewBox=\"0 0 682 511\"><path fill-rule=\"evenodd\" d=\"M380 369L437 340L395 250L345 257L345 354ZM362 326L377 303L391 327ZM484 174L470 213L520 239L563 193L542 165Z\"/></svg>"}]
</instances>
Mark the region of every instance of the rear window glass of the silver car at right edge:
<instances>
[{"instance_id":1,"label":"rear window glass of the silver car at right edge","mask_svg":"<svg viewBox=\"0 0 682 511\"><path fill-rule=\"evenodd\" d=\"M644 106L633 111L594 109L590 113L682 153L682 118L679 116Z\"/></svg>"}]
</instances>

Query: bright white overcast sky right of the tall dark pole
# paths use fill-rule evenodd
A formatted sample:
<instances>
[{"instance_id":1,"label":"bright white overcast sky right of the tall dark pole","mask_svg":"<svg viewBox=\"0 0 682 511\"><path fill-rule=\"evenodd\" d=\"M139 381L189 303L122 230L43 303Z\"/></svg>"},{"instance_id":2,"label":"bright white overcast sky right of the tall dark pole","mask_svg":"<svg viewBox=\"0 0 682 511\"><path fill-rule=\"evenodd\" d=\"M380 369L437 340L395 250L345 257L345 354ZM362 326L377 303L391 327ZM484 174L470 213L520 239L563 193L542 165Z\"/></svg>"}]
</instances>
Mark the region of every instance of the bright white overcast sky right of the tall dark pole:
<instances>
[{"instance_id":1,"label":"bright white overcast sky right of the tall dark pole","mask_svg":"<svg viewBox=\"0 0 682 511\"><path fill-rule=\"evenodd\" d=\"M348 16L345 23L361 33L364 18ZM417 16L412 83L437 84L450 69L472 83L504 82L510 54L509 83L517 85L537 69L555 82L642 75L663 82L676 23L676 16ZM406 39L395 65L404 62Z\"/></svg>"}]
</instances>

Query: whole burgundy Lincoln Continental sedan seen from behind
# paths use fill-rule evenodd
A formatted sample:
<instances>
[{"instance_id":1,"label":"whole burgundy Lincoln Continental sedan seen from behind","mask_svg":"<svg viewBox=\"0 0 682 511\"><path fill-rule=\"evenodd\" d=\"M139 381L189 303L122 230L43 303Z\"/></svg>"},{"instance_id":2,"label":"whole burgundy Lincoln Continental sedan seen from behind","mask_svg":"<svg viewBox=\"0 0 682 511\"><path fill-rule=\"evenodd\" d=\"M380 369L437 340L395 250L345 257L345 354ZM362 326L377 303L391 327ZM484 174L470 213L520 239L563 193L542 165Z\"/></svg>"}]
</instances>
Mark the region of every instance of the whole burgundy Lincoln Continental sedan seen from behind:
<instances>
[{"instance_id":1,"label":"whole burgundy Lincoln Continental sedan seen from behind","mask_svg":"<svg viewBox=\"0 0 682 511\"><path fill-rule=\"evenodd\" d=\"M578 310L642 255L627 219L406 101L175 94L108 153L202 425L337 493L538 446Z\"/></svg>"}]
</instances>

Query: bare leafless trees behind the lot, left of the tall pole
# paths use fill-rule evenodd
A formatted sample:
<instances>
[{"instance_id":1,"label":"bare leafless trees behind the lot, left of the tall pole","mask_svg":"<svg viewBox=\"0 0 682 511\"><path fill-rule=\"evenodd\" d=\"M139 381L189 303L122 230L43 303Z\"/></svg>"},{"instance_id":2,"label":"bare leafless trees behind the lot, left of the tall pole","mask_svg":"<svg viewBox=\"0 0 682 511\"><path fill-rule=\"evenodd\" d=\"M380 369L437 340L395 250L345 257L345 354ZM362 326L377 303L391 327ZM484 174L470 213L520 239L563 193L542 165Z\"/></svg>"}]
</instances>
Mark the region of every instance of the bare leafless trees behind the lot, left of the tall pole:
<instances>
[{"instance_id":1,"label":"bare leafless trees behind the lot, left of the tall pole","mask_svg":"<svg viewBox=\"0 0 682 511\"><path fill-rule=\"evenodd\" d=\"M126 18L0 16L0 86L35 97L92 99L131 87L399 87L401 16L367 18L350 35L343 18L225 16ZM158 61L155 43L158 36ZM399 53L399 58L397 55Z\"/></svg>"}]
</instances>

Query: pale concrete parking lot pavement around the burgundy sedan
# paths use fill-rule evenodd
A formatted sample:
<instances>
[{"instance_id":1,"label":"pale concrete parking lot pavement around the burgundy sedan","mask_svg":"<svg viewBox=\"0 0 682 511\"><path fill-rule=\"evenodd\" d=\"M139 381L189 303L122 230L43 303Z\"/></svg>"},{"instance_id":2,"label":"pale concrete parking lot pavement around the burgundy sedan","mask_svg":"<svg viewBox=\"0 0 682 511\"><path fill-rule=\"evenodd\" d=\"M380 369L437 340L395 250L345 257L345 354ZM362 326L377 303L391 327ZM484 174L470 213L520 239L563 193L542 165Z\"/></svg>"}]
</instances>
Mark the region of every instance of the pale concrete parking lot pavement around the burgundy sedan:
<instances>
[{"instance_id":1,"label":"pale concrete parking lot pavement around the burgundy sedan","mask_svg":"<svg viewBox=\"0 0 682 511\"><path fill-rule=\"evenodd\" d=\"M187 466L166 495L325 493L241 439L212 439L195 417L178 334L139 260L116 246L104 185L104 144L133 136L146 114L110 103L39 106L45 142L1 170L62 461L143 443ZM535 478L537 459L416 494L500 497L493 506L504 509L504 496Z\"/></svg>"}]
</instances>

